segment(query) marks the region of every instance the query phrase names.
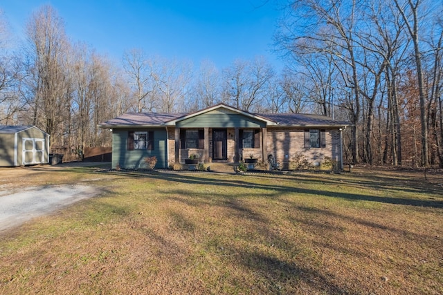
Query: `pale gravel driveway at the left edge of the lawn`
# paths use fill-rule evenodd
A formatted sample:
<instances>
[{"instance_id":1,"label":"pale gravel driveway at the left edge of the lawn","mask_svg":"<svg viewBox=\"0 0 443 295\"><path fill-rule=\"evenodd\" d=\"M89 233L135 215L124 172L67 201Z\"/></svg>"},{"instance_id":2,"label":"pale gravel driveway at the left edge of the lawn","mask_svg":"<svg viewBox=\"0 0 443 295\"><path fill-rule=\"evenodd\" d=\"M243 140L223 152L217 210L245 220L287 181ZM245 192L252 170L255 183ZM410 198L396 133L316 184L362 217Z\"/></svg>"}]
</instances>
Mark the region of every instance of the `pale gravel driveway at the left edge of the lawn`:
<instances>
[{"instance_id":1,"label":"pale gravel driveway at the left edge of the lawn","mask_svg":"<svg viewBox=\"0 0 443 295\"><path fill-rule=\"evenodd\" d=\"M87 185L30 187L19 193L1 191L0 232L98 193Z\"/></svg>"}]
</instances>

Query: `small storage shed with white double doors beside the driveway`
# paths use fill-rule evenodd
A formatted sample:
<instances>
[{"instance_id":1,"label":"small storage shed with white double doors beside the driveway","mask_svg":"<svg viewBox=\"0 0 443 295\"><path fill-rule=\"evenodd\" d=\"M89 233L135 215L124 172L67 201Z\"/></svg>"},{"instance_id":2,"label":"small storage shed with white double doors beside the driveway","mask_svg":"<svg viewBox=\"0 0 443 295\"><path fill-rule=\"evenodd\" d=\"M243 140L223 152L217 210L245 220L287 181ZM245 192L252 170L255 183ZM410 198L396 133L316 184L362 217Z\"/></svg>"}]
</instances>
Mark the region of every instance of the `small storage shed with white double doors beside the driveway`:
<instances>
[{"instance_id":1,"label":"small storage shed with white double doors beside the driveway","mask_svg":"<svg viewBox=\"0 0 443 295\"><path fill-rule=\"evenodd\" d=\"M35 126L0 126L0 166L48 162L48 133Z\"/></svg>"}]
</instances>

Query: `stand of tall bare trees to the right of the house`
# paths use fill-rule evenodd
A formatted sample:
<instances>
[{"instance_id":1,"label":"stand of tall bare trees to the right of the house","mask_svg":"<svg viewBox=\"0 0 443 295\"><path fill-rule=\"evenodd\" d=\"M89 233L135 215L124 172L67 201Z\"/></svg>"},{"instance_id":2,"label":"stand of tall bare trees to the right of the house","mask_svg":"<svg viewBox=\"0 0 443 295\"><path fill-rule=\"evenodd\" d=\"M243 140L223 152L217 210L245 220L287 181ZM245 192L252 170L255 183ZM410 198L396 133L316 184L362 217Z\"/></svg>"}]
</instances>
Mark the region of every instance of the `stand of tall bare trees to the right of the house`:
<instances>
[{"instance_id":1,"label":"stand of tall bare trees to the right of the house","mask_svg":"<svg viewBox=\"0 0 443 295\"><path fill-rule=\"evenodd\" d=\"M354 124L347 158L443 164L443 3L291 1L276 35L310 101Z\"/></svg>"}]
</instances>

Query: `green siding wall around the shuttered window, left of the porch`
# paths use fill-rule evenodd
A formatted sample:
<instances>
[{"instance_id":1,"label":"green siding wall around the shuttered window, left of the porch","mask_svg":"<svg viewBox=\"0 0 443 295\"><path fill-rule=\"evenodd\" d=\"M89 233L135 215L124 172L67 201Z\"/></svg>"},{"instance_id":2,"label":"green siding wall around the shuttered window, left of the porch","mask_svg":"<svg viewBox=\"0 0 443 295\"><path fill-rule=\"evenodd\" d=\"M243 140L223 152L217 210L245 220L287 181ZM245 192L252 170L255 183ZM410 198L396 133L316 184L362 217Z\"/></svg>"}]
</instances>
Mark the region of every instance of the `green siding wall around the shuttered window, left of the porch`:
<instances>
[{"instance_id":1,"label":"green siding wall around the shuttered window, left of the porch","mask_svg":"<svg viewBox=\"0 0 443 295\"><path fill-rule=\"evenodd\" d=\"M127 138L129 131L154 131L154 150L134 149L127 150ZM156 168L168 167L168 152L166 141L168 134L162 129L114 129L112 131L112 168L117 165L124 169L145 169L143 158L156 156Z\"/></svg>"}]
</instances>

